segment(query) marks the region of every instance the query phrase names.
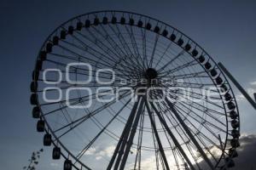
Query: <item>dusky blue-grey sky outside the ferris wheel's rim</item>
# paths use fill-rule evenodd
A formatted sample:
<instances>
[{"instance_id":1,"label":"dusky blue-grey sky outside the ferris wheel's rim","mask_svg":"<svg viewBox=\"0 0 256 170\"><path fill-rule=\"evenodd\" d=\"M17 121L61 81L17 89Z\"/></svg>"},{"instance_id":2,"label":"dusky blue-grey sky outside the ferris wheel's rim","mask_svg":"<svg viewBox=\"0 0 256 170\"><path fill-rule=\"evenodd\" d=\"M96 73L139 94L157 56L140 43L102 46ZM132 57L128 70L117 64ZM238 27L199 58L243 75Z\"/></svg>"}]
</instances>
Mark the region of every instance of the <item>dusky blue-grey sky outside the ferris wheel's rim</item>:
<instances>
[{"instance_id":1,"label":"dusky blue-grey sky outside the ferris wheel's rim","mask_svg":"<svg viewBox=\"0 0 256 170\"><path fill-rule=\"evenodd\" d=\"M160 19L201 44L221 61L242 87L256 90L256 3L255 1L12 1L0 3L0 165L21 169L33 150L43 147L43 135L31 117L29 84L38 50L51 31L78 14L117 9ZM241 133L246 141L244 160L256 154L256 111L239 97ZM248 135L251 134L249 137ZM249 138L249 139L248 139ZM44 148L39 170L61 169ZM247 152L246 152L247 151ZM254 151L254 152L253 152ZM248 153L248 154L246 154ZM245 155L245 156L244 156ZM241 158L242 163L242 158ZM239 168L237 168L239 169ZM249 168L248 168L249 169Z\"/></svg>"}]
</instances>

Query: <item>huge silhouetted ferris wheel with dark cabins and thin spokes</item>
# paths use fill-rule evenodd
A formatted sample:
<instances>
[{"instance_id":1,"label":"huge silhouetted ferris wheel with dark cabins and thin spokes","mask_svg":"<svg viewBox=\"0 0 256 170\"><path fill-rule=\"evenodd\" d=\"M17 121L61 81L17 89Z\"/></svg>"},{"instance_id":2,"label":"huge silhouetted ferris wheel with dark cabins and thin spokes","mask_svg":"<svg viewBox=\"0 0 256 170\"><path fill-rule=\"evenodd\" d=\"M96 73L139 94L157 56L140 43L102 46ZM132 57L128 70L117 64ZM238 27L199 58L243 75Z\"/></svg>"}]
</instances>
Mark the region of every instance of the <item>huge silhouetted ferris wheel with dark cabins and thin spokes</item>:
<instances>
[{"instance_id":1,"label":"huge silhouetted ferris wheel with dark cabins and thin spokes","mask_svg":"<svg viewBox=\"0 0 256 170\"><path fill-rule=\"evenodd\" d=\"M40 49L31 91L37 130L64 170L235 166L229 82L199 44L160 20L124 11L67 20Z\"/></svg>"}]
</instances>

